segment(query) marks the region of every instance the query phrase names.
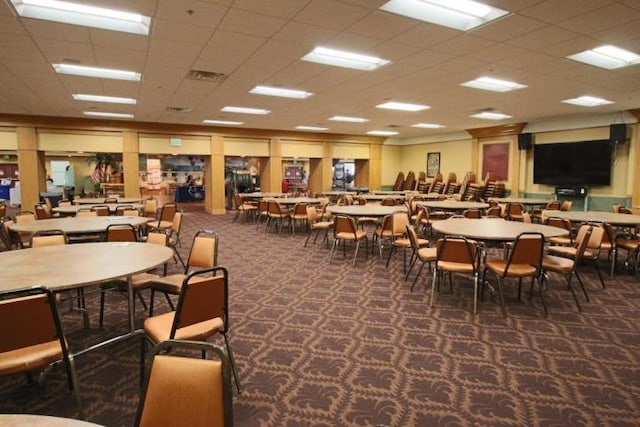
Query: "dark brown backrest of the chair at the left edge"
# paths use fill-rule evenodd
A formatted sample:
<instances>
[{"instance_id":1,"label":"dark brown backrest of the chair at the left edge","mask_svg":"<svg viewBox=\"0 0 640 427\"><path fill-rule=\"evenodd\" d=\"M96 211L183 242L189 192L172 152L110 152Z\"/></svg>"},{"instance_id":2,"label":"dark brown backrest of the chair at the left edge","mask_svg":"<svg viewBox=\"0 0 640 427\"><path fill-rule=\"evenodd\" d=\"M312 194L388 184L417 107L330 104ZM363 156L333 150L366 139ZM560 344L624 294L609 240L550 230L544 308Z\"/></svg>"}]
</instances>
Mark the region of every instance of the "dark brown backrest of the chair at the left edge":
<instances>
[{"instance_id":1,"label":"dark brown backrest of the chair at the left edge","mask_svg":"<svg viewBox=\"0 0 640 427\"><path fill-rule=\"evenodd\" d=\"M68 357L56 299L50 290L33 287L1 292L0 322L2 325L11 325L3 328L0 334L0 353L56 342L60 346L60 358ZM17 372L26 372L51 362L50 359L42 357L36 357L34 360L43 363L22 366Z\"/></svg>"}]
</instances>

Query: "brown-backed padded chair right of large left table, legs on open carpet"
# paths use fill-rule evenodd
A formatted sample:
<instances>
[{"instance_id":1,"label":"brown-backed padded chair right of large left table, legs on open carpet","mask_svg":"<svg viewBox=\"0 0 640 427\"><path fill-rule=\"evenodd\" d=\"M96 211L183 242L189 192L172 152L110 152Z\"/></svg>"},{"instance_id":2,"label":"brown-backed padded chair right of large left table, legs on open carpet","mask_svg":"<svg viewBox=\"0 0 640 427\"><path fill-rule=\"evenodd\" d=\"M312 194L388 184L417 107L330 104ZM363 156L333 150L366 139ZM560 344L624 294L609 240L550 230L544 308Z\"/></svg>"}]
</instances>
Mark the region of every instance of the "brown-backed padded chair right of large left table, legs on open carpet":
<instances>
[{"instance_id":1,"label":"brown-backed padded chair right of large left table, legs on open carpet","mask_svg":"<svg viewBox=\"0 0 640 427\"><path fill-rule=\"evenodd\" d=\"M240 393L238 372L229 344L229 273L224 267L216 266L193 271L184 276L180 283L178 304L175 311L151 316L145 319L142 342L144 363L146 343L179 339L206 341L215 334L224 338L231 370Z\"/></svg>"}]
</instances>

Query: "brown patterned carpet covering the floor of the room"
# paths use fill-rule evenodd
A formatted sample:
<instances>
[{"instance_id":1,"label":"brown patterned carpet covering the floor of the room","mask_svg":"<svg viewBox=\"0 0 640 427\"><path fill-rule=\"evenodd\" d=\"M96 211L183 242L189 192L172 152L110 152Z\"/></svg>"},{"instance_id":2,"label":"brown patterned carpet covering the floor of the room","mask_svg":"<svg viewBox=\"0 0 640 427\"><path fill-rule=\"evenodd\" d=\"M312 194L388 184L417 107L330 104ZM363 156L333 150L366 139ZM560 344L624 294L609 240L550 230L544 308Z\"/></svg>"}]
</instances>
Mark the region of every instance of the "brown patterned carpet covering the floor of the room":
<instances>
[{"instance_id":1,"label":"brown patterned carpet covering the floor of the room","mask_svg":"<svg viewBox=\"0 0 640 427\"><path fill-rule=\"evenodd\" d=\"M186 257L197 229L221 235L243 386L236 426L640 425L640 283L629 274L607 278L602 289L585 270L591 302L582 314L554 278L546 318L539 299L518 302L515 292L506 296L506 318L489 300L473 315L464 277L430 308L430 277L409 292L401 254L388 269L364 253L355 267L349 252L329 265L325 245L304 248L303 233L264 233L232 218L188 211L181 250ZM125 331L124 302L109 295L103 330L95 297L89 330L65 313L72 348ZM86 419L132 425L138 358L136 339L77 360ZM59 367L41 391L22 376L1 378L0 412L73 417L65 387Z\"/></svg>"}]
</instances>

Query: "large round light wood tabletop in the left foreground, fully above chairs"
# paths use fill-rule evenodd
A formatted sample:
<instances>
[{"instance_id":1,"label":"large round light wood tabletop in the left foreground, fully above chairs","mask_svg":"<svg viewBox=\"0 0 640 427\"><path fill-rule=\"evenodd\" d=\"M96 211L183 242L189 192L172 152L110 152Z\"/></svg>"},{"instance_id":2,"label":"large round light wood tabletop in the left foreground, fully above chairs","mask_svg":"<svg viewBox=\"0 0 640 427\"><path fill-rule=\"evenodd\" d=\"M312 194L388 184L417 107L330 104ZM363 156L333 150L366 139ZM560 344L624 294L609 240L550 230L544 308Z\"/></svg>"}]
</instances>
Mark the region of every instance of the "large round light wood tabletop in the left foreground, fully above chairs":
<instances>
[{"instance_id":1,"label":"large round light wood tabletop in the left foreground, fully above chairs","mask_svg":"<svg viewBox=\"0 0 640 427\"><path fill-rule=\"evenodd\" d=\"M0 291L35 285L74 289L142 273L164 264L173 250L151 243L103 242L0 252Z\"/></svg>"}]
</instances>

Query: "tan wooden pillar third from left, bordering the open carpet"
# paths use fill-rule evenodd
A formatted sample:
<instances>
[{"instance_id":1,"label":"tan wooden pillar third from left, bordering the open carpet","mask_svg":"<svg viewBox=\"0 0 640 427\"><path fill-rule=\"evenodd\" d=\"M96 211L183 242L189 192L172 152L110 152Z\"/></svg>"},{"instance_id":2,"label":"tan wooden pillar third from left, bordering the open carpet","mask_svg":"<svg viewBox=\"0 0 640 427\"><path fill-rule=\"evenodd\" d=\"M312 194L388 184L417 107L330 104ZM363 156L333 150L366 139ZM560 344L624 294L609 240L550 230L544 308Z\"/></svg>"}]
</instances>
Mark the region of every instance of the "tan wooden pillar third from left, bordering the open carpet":
<instances>
[{"instance_id":1,"label":"tan wooden pillar third from left, bordering the open carpet","mask_svg":"<svg viewBox=\"0 0 640 427\"><path fill-rule=\"evenodd\" d=\"M224 138L211 137L211 156L204 161L205 203L204 210L214 215L227 212L225 208Z\"/></svg>"}]
</instances>

